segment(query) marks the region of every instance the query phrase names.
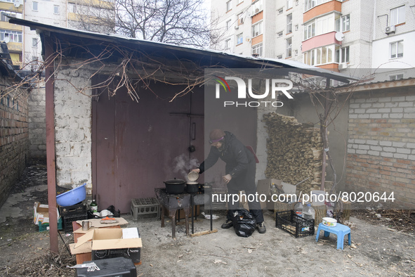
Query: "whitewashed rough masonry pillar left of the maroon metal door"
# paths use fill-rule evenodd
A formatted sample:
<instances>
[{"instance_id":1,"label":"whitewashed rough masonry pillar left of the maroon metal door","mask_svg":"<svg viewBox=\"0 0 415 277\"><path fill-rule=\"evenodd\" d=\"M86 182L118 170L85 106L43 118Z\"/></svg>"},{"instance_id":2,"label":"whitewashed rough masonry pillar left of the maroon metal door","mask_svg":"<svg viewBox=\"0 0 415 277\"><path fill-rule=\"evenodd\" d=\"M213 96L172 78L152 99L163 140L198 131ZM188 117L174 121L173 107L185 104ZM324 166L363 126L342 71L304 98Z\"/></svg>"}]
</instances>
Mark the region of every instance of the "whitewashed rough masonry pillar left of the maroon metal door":
<instances>
[{"instance_id":1,"label":"whitewashed rough masonry pillar left of the maroon metal door","mask_svg":"<svg viewBox=\"0 0 415 277\"><path fill-rule=\"evenodd\" d=\"M55 73L55 155L58 186L74 188L86 183L92 189L91 86L95 71L60 67Z\"/></svg>"}]
</instances>

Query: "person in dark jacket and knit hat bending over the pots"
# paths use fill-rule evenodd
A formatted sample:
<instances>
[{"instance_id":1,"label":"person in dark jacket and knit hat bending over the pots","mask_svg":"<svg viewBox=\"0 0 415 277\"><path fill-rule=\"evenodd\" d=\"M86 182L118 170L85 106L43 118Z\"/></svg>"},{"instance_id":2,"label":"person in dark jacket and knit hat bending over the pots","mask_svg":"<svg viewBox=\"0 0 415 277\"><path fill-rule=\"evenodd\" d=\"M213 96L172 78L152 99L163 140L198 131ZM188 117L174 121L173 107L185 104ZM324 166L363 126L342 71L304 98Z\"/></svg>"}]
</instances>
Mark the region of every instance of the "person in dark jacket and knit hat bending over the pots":
<instances>
[{"instance_id":1,"label":"person in dark jacket and knit hat bending over the pots","mask_svg":"<svg viewBox=\"0 0 415 277\"><path fill-rule=\"evenodd\" d=\"M253 153L229 131L214 129L209 134L209 139L211 150L208 157L199 168L192 171L202 174L207 169L213 167L220 157L226 163L225 176L222 178L228 186L228 193L238 194L239 191L245 191L247 196L250 194L255 195L256 160ZM261 204L258 201L249 201L248 204L249 210L256 220L258 232L265 233L266 228ZM238 206L239 203L228 202L227 220L222 224L221 228L232 227L233 213Z\"/></svg>"}]
</instances>

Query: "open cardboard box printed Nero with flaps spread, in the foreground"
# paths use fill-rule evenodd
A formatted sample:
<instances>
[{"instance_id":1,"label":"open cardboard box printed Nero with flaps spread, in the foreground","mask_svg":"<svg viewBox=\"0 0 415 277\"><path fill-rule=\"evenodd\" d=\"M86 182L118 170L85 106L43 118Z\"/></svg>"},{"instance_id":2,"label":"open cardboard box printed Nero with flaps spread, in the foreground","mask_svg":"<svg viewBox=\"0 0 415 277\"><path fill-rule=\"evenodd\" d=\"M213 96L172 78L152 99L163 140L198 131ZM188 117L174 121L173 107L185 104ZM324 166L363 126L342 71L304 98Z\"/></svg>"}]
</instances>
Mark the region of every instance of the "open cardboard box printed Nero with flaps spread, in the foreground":
<instances>
[{"instance_id":1,"label":"open cardboard box printed Nero with flaps spread, in the foreground","mask_svg":"<svg viewBox=\"0 0 415 277\"><path fill-rule=\"evenodd\" d=\"M140 262L141 247L138 228L93 228L70 244L72 255L92 252L92 260L126 257L133 263Z\"/></svg>"}]
</instances>

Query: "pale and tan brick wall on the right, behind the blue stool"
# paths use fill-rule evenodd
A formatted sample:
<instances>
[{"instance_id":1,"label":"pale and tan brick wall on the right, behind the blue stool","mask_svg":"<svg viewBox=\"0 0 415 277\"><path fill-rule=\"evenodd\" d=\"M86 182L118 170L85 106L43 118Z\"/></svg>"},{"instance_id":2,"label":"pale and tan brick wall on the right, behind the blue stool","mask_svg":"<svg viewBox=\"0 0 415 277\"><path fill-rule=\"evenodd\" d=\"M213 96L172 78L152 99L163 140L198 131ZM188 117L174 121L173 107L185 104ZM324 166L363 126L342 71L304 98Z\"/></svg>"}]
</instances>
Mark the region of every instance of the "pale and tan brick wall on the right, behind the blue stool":
<instances>
[{"instance_id":1,"label":"pale and tan brick wall on the right, behind the blue stool","mask_svg":"<svg viewBox=\"0 0 415 277\"><path fill-rule=\"evenodd\" d=\"M348 190L393 192L395 204L414 208L414 88L355 95L348 129Z\"/></svg>"}]
</instances>

